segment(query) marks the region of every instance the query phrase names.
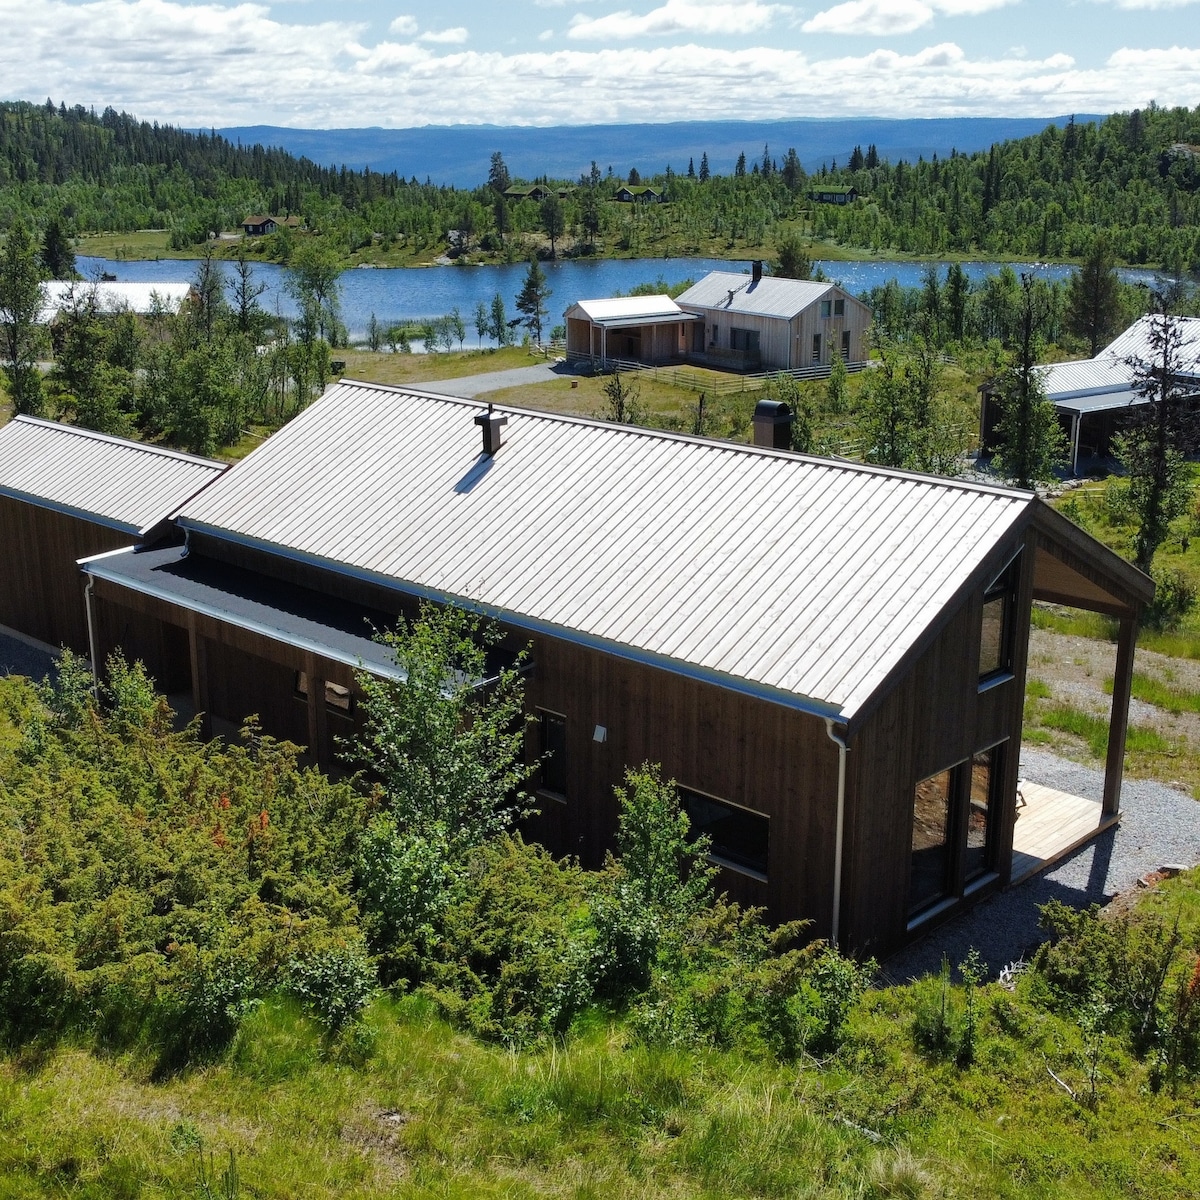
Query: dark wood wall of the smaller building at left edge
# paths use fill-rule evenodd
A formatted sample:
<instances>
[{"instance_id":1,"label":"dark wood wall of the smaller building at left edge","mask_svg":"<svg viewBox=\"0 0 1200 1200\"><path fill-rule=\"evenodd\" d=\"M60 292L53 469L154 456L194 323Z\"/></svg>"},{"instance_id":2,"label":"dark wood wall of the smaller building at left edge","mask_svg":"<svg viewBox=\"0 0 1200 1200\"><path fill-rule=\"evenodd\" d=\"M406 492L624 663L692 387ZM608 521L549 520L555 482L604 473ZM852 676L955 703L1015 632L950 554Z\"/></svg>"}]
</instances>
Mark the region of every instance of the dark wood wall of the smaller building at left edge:
<instances>
[{"instance_id":1,"label":"dark wood wall of the smaller building at left edge","mask_svg":"<svg viewBox=\"0 0 1200 1200\"><path fill-rule=\"evenodd\" d=\"M0 625L88 654L84 580L76 562L136 541L133 534L0 496Z\"/></svg>"}]
</instances>

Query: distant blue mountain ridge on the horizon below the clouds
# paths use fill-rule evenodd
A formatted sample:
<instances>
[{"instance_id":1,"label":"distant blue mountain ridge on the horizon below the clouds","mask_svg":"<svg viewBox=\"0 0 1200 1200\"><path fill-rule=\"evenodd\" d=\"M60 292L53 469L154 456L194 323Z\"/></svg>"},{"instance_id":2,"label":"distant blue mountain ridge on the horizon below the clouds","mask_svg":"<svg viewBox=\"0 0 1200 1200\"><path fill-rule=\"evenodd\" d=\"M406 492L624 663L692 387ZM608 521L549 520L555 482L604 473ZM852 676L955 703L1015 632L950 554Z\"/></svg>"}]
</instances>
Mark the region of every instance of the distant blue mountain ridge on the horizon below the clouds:
<instances>
[{"instance_id":1,"label":"distant blue mountain ridge on the horizon below the clouds","mask_svg":"<svg viewBox=\"0 0 1200 1200\"><path fill-rule=\"evenodd\" d=\"M487 179L493 151L504 155L514 176L550 175L575 179L592 161L611 166L624 176L630 167L655 174L666 166L680 174L688 160L700 168L708 155L712 170L732 174L743 151L748 162L762 157L763 145L782 160L794 146L806 170L836 161L844 166L851 150L874 144L881 158L916 162L952 150L971 154L995 142L1063 126L1069 116L946 116L893 120L887 118L803 118L778 121L674 121L666 125L500 125L424 126L410 130L294 130L277 125L247 125L217 130L242 145L259 143L304 155L328 167L395 170L406 179L474 187ZM1076 114L1079 122L1103 120Z\"/></svg>"}]
</instances>

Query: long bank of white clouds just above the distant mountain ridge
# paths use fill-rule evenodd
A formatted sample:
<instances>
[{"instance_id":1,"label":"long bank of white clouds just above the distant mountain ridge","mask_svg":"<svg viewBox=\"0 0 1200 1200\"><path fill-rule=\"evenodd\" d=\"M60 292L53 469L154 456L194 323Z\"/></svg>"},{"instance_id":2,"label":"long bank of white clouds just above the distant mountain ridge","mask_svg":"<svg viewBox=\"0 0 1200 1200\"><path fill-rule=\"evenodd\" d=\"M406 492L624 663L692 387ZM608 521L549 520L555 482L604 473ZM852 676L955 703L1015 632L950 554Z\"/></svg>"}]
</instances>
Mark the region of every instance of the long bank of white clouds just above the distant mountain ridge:
<instances>
[{"instance_id":1,"label":"long bank of white clouds just above the distant mountain ridge","mask_svg":"<svg viewBox=\"0 0 1200 1200\"><path fill-rule=\"evenodd\" d=\"M278 12L278 10L275 10ZM289 17L298 10L289 8ZM304 10L299 10L304 12ZM524 46L515 52L366 40L349 22L289 24L262 5L0 0L8 96L112 104L186 126L673 121L697 95L739 118L1048 116L1195 103L1200 47L996 58L941 42L826 58L778 46ZM809 47L815 44L809 43ZM703 80L697 91L697 80Z\"/></svg>"}]
</instances>

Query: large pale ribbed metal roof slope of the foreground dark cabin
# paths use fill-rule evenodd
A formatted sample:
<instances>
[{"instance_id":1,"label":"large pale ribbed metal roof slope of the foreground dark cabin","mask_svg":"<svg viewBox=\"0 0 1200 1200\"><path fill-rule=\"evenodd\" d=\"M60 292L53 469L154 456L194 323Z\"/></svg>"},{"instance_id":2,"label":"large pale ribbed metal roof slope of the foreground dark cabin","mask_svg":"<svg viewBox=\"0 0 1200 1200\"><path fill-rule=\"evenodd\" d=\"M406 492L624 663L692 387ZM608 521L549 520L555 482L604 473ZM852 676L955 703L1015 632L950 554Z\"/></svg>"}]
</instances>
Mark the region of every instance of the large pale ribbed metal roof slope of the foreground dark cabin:
<instances>
[{"instance_id":1,"label":"large pale ribbed metal roof slope of the foreground dark cabin","mask_svg":"<svg viewBox=\"0 0 1200 1200\"><path fill-rule=\"evenodd\" d=\"M180 523L848 719L1025 492L343 382Z\"/></svg>"}]
</instances>

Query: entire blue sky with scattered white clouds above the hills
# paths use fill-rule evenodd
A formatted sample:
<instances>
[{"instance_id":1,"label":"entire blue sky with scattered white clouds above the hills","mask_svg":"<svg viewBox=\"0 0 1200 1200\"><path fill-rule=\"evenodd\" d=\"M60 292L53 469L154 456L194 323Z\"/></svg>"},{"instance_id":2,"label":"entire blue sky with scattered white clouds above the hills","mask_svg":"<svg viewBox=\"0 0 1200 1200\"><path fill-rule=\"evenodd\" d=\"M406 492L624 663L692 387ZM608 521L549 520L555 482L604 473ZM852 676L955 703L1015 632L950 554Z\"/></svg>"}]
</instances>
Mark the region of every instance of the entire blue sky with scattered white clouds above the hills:
<instances>
[{"instance_id":1,"label":"entire blue sky with scattered white clouds above the hills","mask_svg":"<svg viewBox=\"0 0 1200 1200\"><path fill-rule=\"evenodd\" d=\"M186 125L1200 104L1200 0L0 0L6 98Z\"/></svg>"}]
</instances>

